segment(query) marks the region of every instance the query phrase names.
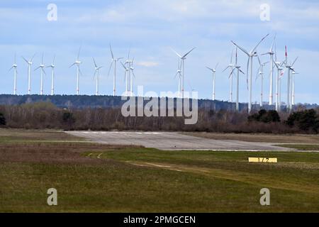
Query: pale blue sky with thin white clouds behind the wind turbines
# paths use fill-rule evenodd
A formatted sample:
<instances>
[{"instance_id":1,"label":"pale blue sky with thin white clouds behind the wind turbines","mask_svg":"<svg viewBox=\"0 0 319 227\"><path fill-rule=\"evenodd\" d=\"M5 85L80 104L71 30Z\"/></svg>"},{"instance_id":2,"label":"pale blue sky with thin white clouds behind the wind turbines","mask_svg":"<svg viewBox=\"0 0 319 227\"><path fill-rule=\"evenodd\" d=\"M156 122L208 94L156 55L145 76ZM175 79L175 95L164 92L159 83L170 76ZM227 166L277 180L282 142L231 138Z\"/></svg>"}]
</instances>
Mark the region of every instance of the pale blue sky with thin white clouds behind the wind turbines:
<instances>
[{"instance_id":1,"label":"pale blue sky with thin white clouds behind the wind turbines","mask_svg":"<svg viewBox=\"0 0 319 227\"><path fill-rule=\"evenodd\" d=\"M57 20L48 20L49 4L57 6ZM261 8L263 4L269 6ZM266 14L265 14L266 13ZM51 14L50 14L51 15ZM49 15L49 18L50 18ZM318 1L259 1L259 0L1 0L0 1L0 94L13 93L14 55L18 65L17 93L28 92L28 66L22 57L35 54L31 74L33 94L40 92L40 65L44 54L45 65L55 55L55 94L76 93L76 60L79 47L82 75L80 94L95 93L94 62L103 66L100 94L112 94L113 77L108 75L111 64L109 44L117 57L135 59L136 86L145 92L176 92L178 89L178 57L172 48L184 54L185 91L197 91L201 99L211 99L212 74L215 67L216 99L230 99L229 71L235 41L251 50L269 33L257 52L269 51L276 34L278 60L284 60L284 47L288 46L289 62L298 57L296 72L296 103L319 104L319 2ZM261 55L262 62L269 61ZM246 73L247 56L238 51L238 63ZM261 80L256 79L259 64L254 58L252 100L259 102ZM50 68L46 68L44 93L50 94ZM264 69L264 101L269 97L270 65ZM117 67L117 91L125 89L124 69ZM276 70L275 70L276 72ZM282 100L286 100L286 74L282 78ZM276 89L274 84L274 90ZM234 89L235 94L235 79ZM248 101L246 75L240 76L240 101Z\"/></svg>"}]
</instances>

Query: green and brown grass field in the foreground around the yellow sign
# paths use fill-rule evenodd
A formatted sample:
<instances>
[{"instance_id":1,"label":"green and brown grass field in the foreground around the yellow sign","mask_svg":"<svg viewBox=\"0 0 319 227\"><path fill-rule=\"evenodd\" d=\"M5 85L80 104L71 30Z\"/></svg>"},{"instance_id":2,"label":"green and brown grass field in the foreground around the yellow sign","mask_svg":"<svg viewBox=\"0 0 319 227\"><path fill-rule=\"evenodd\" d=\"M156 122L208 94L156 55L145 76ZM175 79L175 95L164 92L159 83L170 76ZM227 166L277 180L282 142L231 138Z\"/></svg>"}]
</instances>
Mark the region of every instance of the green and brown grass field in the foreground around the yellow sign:
<instances>
[{"instance_id":1,"label":"green and brown grass field in the foreground around the yellow sign","mask_svg":"<svg viewBox=\"0 0 319 227\"><path fill-rule=\"evenodd\" d=\"M162 151L52 131L0 135L1 212L319 211L319 153ZM46 203L51 187L58 206ZM263 187L270 206L259 204Z\"/></svg>"}]
</instances>

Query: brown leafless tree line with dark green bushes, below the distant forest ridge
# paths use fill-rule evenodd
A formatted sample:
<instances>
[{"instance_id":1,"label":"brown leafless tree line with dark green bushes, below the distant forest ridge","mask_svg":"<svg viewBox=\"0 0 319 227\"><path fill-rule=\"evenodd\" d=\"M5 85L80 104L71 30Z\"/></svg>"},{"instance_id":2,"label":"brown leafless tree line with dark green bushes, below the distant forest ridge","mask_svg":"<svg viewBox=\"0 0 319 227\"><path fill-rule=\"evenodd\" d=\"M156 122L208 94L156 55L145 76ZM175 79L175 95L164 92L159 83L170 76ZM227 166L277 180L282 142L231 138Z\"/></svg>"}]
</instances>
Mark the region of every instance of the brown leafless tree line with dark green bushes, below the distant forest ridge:
<instances>
[{"instance_id":1,"label":"brown leafless tree line with dark green bushes, below the distant forest ridge","mask_svg":"<svg viewBox=\"0 0 319 227\"><path fill-rule=\"evenodd\" d=\"M27 129L206 131L219 133L318 133L318 109L299 107L295 112L277 113L198 110L198 122L185 125L184 117L124 117L121 108L59 108L43 101L0 106L0 126Z\"/></svg>"}]
</instances>

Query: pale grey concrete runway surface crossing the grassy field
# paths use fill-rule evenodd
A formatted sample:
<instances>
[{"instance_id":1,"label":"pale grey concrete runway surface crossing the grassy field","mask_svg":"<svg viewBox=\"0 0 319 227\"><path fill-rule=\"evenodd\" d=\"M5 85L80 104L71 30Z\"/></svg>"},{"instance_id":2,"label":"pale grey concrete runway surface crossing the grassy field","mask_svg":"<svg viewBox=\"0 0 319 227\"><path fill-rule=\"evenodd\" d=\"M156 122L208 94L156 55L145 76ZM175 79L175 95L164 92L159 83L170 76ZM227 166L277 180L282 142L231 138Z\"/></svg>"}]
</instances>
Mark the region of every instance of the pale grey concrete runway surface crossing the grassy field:
<instances>
[{"instance_id":1,"label":"pale grey concrete runway surface crossing the grassy field","mask_svg":"<svg viewBox=\"0 0 319 227\"><path fill-rule=\"evenodd\" d=\"M160 150L293 150L276 147L272 143L213 140L170 132L68 131L67 133L99 143L111 145L142 145L145 148L157 148Z\"/></svg>"}]
</instances>

